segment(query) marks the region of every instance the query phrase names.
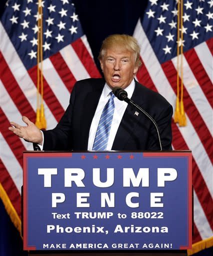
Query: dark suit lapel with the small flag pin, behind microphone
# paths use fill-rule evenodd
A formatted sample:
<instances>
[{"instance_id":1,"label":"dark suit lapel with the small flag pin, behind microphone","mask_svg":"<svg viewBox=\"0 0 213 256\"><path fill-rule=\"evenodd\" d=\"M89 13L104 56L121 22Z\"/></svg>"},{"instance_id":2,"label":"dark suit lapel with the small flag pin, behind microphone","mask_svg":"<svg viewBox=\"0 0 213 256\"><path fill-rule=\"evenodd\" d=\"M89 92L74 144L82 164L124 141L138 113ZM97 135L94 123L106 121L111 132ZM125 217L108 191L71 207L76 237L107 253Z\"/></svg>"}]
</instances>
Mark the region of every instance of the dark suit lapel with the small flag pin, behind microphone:
<instances>
[{"instance_id":1,"label":"dark suit lapel with the small flag pin, behind microphone","mask_svg":"<svg viewBox=\"0 0 213 256\"><path fill-rule=\"evenodd\" d=\"M141 91L139 87L141 86L138 82L135 81L135 88L131 99L135 101L138 105L142 106L143 102L141 101ZM138 97L138 95L140 97ZM118 127L117 133L114 138L114 142L112 145L112 150L123 150L125 147L126 142L128 141L129 137L131 136L136 124L140 120L142 113L138 113L134 107L131 107L129 104L126 107L126 110L123 114L121 119L120 125Z\"/></svg>"}]
</instances>

